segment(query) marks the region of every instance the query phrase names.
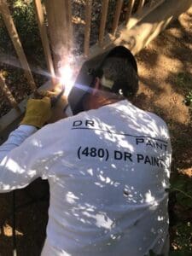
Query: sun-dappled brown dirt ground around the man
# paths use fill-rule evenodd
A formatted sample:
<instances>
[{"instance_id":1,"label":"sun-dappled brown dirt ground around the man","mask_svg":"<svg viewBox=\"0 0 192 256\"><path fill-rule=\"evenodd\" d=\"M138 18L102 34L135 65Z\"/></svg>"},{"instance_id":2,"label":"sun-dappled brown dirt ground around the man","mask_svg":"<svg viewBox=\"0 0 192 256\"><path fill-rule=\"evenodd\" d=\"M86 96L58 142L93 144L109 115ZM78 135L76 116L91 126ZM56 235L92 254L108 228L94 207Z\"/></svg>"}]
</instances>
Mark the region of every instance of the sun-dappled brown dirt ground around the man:
<instances>
[{"instance_id":1,"label":"sun-dappled brown dirt ground around the man","mask_svg":"<svg viewBox=\"0 0 192 256\"><path fill-rule=\"evenodd\" d=\"M192 9L143 49L137 55L137 61L140 89L136 104L157 113L169 126L173 149L172 179L178 177L179 173L191 179L192 119L191 111L183 104L183 100L192 90ZM15 191L16 245L19 256L38 256L43 247L49 207L46 184L43 186L39 188L39 184L33 184L27 189ZM38 201L35 193L41 194ZM12 254L12 198L12 193L0 195L0 255L3 256ZM178 216L182 215L181 221L189 222L192 218L191 209L183 213L171 201L170 233L174 249L176 235L172 216L177 212Z\"/></svg>"}]
</instances>

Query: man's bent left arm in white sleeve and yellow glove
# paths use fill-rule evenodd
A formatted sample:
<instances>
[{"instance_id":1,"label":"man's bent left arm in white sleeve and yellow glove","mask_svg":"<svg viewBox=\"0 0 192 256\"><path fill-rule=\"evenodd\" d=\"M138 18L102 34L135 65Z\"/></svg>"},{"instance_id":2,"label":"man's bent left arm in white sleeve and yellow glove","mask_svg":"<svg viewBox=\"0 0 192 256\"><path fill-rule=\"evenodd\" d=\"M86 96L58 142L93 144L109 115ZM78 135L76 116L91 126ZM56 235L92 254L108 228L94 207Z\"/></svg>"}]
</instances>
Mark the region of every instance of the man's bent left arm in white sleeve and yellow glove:
<instances>
[{"instance_id":1,"label":"man's bent left arm in white sleeve and yellow glove","mask_svg":"<svg viewBox=\"0 0 192 256\"><path fill-rule=\"evenodd\" d=\"M38 143L34 137L29 140L26 138L44 125L50 113L48 97L27 102L26 114L21 125L0 147L0 192L23 188L41 176L35 166L38 161Z\"/></svg>"}]
</instances>

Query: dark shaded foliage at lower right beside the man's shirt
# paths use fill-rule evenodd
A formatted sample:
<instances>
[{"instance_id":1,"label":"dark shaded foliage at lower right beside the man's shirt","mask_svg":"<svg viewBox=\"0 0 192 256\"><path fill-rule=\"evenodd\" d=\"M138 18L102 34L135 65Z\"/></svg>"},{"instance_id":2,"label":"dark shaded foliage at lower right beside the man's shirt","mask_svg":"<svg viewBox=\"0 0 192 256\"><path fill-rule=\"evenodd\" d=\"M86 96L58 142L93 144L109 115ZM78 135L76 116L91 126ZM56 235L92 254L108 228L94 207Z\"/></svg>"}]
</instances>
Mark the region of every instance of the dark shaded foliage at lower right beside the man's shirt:
<instances>
[{"instance_id":1,"label":"dark shaded foliage at lower right beside the man's shirt","mask_svg":"<svg viewBox=\"0 0 192 256\"><path fill-rule=\"evenodd\" d=\"M172 180L170 189L175 195L174 214L176 223L172 226L172 251L170 256L192 255L192 223L190 221L192 208L191 178L177 175ZM173 250L174 248L174 250Z\"/></svg>"}]
</instances>

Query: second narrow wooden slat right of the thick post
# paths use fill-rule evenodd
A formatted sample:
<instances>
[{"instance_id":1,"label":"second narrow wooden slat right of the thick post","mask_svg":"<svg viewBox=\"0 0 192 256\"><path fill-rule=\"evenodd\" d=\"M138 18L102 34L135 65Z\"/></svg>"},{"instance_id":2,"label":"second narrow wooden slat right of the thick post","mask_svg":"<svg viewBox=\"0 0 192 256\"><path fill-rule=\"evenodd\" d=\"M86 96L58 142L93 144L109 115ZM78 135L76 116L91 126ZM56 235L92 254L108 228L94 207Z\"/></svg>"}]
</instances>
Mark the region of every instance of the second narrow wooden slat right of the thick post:
<instances>
[{"instance_id":1,"label":"second narrow wooden slat right of the thick post","mask_svg":"<svg viewBox=\"0 0 192 256\"><path fill-rule=\"evenodd\" d=\"M105 1L102 1L102 19L101 19L100 29L99 29L99 45L100 45L100 47L102 47L103 38L104 38L104 34L105 34L107 15L108 15L108 0L105 0Z\"/></svg>"}]
</instances>

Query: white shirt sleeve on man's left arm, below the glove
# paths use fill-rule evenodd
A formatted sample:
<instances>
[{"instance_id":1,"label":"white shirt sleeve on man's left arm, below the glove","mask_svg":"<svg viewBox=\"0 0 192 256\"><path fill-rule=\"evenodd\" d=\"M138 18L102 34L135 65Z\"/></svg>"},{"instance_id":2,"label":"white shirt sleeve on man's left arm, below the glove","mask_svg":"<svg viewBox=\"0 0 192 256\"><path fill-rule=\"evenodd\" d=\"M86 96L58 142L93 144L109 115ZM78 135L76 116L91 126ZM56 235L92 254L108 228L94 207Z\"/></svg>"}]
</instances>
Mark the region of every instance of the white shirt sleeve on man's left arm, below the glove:
<instances>
[{"instance_id":1,"label":"white shirt sleeve on man's left arm, below the glove","mask_svg":"<svg viewBox=\"0 0 192 256\"><path fill-rule=\"evenodd\" d=\"M38 177L31 167L33 145L26 142L36 131L31 125L20 125L0 146L0 192L23 188Z\"/></svg>"}]
</instances>

